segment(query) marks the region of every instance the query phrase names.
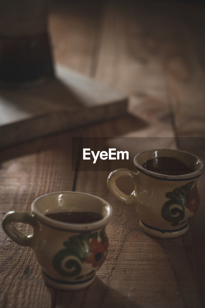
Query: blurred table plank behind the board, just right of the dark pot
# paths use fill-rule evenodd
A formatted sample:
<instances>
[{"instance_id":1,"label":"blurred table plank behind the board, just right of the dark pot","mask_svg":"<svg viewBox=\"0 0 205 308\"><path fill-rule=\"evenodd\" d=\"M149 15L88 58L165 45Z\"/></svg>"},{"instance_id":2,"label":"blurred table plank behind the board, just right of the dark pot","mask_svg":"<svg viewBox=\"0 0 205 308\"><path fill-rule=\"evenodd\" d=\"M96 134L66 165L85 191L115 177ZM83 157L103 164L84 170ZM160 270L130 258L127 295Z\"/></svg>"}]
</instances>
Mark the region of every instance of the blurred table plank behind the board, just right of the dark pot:
<instances>
[{"instance_id":1,"label":"blurred table plank behind the board, just right of the dark pot","mask_svg":"<svg viewBox=\"0 0 205 308\"><path fill-rule=\"evenodd\" d=\"M52 1L49 30L54 59L71 70L93 77L100 41L102 1Z\"/></svg>"}]
</instances>

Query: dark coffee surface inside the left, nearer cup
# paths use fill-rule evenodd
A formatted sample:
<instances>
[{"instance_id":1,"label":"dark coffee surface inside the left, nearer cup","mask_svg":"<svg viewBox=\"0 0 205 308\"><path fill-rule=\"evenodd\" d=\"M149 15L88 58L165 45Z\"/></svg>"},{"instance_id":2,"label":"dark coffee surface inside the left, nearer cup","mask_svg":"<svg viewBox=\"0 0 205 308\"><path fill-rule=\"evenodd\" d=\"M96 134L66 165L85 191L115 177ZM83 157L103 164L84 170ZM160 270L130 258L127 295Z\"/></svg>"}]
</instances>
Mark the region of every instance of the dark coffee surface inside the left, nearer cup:
<instances>
[{"instance_id":1,"label":"dark coffee surface inside the left, nearer cup","mask_svg":"<svg viewBox=\"0 0 205 308\"><path fill-rule=\"evenodd\" d=\"M88 222L98 221L103 218L101 214L93 212L60 212L45 214L46 217L75 224L84 224Z\"/></svg>"}]
</instances>

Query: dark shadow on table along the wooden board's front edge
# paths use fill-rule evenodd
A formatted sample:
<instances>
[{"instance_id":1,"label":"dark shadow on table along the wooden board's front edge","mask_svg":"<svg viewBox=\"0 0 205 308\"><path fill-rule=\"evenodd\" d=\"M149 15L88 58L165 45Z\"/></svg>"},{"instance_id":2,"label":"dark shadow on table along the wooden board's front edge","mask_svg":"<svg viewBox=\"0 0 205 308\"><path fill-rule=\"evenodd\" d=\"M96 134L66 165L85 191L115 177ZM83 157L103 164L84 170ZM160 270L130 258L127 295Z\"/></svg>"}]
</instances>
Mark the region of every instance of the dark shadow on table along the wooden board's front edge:
<instances>
[{"instance_id":1,"label":"dark shadow on table along the wooden board's front edge","mask_svg":"<svg viewBox=\"0 0 205 308\"><path fill-rule=\"evenodd\" d=\"M107 120L105 122L98 121L95 124L66 130L64 132L56 132L49 136L43 136L1 148L0 163L21 156L48 151L50 149L63 150L63 152L70 151L71 154L72 137L115 137L116 135L121 136L129 132L146 128L147 125L148 123L146 123L146 121L129 114L115 120ZM100 132L102 132L102 134Z\"/></svg>"}]
</instances>

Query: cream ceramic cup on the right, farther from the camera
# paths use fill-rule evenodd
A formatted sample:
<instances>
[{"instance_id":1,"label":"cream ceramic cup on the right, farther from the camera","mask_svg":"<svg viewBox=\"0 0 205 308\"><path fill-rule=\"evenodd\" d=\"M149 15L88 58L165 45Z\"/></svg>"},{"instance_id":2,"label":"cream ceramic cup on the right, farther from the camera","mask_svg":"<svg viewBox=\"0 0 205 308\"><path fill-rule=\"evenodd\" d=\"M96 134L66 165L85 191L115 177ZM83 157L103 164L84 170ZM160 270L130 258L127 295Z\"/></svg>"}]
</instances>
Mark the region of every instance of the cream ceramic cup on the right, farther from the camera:
<instances>
[{"instance_id":1,"label":"cream ceramic cup on the right, farther from the camera","mask_svg":"<svg viewBox=\"0 0 205 308\"><path fill-rule=\"evenodd\" d=\"M169 157L181 161L191 173L164 175L143 168L148 160ZM197 180L204 170L203 161L187 152L158 149L137 154L136 172L128 169L112 171L107 178L110 192L125 204L133 204L140 217L140 226L146 233L161 238L177 237L189 228L189 220L199 207ZM115 184L122 176L130 177L135 189L127 195Z\"/></svg>"}]
</instances>

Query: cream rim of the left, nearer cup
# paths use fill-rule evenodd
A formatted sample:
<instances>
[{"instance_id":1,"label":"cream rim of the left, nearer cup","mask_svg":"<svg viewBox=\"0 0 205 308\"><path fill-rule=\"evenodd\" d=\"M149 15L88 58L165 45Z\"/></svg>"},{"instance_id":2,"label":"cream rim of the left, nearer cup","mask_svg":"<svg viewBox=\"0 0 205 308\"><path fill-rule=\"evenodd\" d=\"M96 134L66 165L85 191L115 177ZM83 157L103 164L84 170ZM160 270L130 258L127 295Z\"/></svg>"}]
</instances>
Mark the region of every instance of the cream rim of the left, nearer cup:
<instances>
[{"instance_id":1,"label":"cream rim of the left, nearer cup","mask_svg":"<svg viewBox=\"0 0 205 308\"><path fill-rule=\"evenodd\" d=\"M63 221L58 221L54 220L52 218L46 217L44 214L40 213L40 211L36 207L36 201L42 198L46 198L47 196L50 195L55 195L55 194L80 194L83 196L90 196L93 199L98 199L102 202L102 204L105 205L105 208L107 209L107 215L103 217L102 219L94 222L88 222L88 223L73 223L73 222L63 222ZM72 231L72 232L86 232L86 231L92 231L96 229L101 229L107 223L110 221L113 209L112 206L105 201L104 199L91 195L89 193L81 193L81 192L74 192L74 191L58 191L58 192L53 192L53 193L47 193L42 196L37 197L31 204L31 211L34 213L35 217L44 225L47 225L48 227L51 227L53 229L58 229L62 231Z\"/></svg>"}]
</instances>

